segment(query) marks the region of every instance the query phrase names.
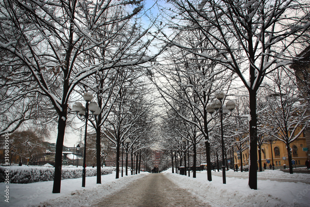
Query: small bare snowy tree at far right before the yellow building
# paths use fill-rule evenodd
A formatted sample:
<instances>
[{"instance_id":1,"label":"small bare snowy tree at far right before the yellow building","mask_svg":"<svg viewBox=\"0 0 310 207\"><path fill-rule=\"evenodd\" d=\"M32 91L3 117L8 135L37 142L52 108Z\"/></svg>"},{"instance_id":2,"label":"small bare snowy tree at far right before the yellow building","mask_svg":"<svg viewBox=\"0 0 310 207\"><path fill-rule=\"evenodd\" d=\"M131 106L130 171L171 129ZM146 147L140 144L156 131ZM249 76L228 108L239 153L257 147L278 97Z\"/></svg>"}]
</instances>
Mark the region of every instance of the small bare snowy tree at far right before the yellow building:
<instances>
[{"instance_id":1,"label":"small bare snowy tree at far right before the yellow building","mask_svg":"<svg viewBox=\"0 0 310 207\"><path fill-rule=\"evenodd\" d=\"M290 173L293 173L290 143L307 128L310 115L307 104L300 99L298 89L283 69L272 73L272 83L265 87L268 104L266 125L270 134L286 144Z\"/></svg>"}]
</instances>

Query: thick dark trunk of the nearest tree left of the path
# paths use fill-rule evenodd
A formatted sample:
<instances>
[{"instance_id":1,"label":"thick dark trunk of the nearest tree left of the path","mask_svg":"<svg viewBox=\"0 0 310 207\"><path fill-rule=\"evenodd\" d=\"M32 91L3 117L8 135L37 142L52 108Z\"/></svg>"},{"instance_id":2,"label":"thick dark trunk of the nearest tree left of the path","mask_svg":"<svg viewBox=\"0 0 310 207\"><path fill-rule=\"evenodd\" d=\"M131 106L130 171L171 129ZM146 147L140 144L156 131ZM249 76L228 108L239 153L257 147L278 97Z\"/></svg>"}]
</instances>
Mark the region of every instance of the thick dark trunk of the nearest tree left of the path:
<instances>
[{"instance_id":1,"label":"thick dark trunk of the nearest tree left of the path","mask_svg":"<svg viewBox=\"0 0 310 207\"><path fill-rule=\"evenodd\" d=\"M61 166L62 166L62 148L64 144L64 131L67 120L67 106L63 106L63 113L58 118L58 134L55 151L55 173L53 182L53 193L60 193Z\"/></svg>"}]
</instances>

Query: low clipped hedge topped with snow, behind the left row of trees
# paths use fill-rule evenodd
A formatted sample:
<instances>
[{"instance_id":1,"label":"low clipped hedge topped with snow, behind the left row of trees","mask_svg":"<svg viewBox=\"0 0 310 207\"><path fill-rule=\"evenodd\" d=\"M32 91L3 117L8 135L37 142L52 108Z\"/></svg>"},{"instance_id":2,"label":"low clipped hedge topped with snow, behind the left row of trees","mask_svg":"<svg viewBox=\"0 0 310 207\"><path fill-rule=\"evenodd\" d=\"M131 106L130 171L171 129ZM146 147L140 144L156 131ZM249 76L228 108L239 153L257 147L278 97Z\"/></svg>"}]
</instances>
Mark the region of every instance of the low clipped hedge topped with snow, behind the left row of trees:
<instances>
[{"instance_id":1,"label":"low clipped hedge topped with snow, behind the left row of trees","mask_svg":"<svg viewBox=\"0 0 310 207\"><path fill-rule=\"evenodd\" d=\"M53 167L35 167L35 166L11 166L11 168L0 167L0 182L4 182L4 170L9 169L10 183L32 183L42 181L52 181L54 179ZM61 179L72 179L82 177L82 167L62 167ZM101 168L101 175L111 174L113 168ZM86 168L86 177L96 176L97 168Z\"/></svg>"}]
</instances>

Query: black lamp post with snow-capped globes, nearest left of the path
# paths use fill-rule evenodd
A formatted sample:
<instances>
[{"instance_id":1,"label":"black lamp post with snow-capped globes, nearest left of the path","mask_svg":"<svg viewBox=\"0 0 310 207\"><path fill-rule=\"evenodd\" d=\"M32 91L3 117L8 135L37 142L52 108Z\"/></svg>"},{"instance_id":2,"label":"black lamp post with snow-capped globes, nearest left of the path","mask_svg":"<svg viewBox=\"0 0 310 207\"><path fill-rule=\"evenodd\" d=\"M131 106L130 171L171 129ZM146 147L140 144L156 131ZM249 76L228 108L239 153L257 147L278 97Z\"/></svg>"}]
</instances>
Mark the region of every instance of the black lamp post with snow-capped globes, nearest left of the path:
<instances>
[{"instance_id":1,"label":"black lamp post with snow-capped globes, nearest left of the path","mask_svg":"<svg viewBox=\"0 0 310 207\"><path fill-rule=\"evenodd\" d=\"M85 92L83 95L84 100L86 101L86 106L84 107L82 103L75 102L73 104L73 111L77 113L79 119L82 121L85 120L85 136L84 136L84 157L83 157L83 173L82 173L82 187L85 187L85 179L86 179L86 135L87 135L87 121L88 119L93 118L93 116L97 116L100 114L100 107L98 107L98 104L95 102L91 102L93 99L93 94L91 92ZM92 115L91 117L88 117L88 112L91 111ZM84 117L82 118L82 116Z\"/></svg>"}]
</instances>

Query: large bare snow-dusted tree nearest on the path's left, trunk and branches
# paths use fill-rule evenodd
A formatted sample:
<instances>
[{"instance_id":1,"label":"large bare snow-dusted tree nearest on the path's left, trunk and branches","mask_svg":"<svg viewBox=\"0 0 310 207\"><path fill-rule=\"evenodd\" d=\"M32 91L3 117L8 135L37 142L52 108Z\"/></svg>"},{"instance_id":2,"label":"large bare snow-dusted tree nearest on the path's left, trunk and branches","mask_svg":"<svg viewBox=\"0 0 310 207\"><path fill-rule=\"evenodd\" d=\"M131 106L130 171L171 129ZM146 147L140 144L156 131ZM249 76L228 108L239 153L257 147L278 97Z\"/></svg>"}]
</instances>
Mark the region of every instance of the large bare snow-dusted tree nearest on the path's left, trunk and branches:
<instances>
[{"instance_id":1,"label":"large bare snow-dusted tree nearest on the path's left, trunk and branches","mask_svg":"<svg viewBox=\"0 0 310 207\"><path fill-rule=\"evenodd\" d=\"M23 65L11 79L20 79L20 74L31 77L58 114L53 193L59 193L70 94L92 74L117 67L134 69L152 59L147 51L153 37L146 37L149 28L135 32L132 19L141 11L141 1L9 0L1 7L5 18L0 24L0 50L8 53L1 65ZM117 29L104 29L112 24ZM102 48L109 41L115 43L114 53L103 61ZM95 63L89 57L95 57Z\"/></svg>"}]
</instances>

